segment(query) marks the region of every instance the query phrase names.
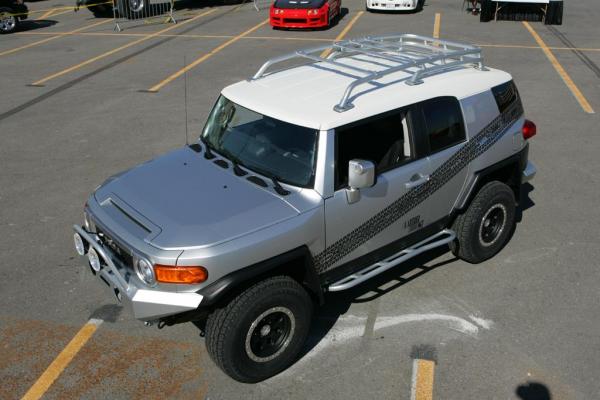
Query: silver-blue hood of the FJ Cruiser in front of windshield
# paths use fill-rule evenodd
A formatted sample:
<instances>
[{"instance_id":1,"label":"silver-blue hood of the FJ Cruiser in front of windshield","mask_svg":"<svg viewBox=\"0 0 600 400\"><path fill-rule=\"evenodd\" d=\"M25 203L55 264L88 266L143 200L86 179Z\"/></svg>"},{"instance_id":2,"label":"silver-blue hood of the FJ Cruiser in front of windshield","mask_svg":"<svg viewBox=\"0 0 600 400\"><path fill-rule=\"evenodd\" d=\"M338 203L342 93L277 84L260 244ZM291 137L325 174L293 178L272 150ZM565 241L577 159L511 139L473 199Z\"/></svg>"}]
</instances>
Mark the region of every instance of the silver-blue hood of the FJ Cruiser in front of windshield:
<instances>
[{"instance_id":1,"label":"silver-blue hood of the FJ Cruiser in front of windshield","mask_svg":"<svg viewBox=\"0 0 600 400\"><path fill-rule=\"evenodd\" d=\"M211 246L298 215L275 193L188 147L109 179L95 198L161 249Z\"/></svg>"}]
</instances>

